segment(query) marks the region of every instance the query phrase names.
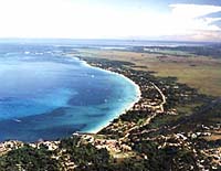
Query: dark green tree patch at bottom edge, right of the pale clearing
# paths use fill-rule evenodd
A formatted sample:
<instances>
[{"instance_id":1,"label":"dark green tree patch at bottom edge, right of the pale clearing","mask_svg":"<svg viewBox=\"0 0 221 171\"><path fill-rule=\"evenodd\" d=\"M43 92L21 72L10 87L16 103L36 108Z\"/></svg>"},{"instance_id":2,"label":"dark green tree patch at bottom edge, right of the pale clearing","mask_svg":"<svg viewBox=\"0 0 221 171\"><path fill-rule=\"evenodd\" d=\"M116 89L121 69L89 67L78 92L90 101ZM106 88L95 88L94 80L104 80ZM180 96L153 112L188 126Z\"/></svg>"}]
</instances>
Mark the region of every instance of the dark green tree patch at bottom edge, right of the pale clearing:
<instances>
[{"instance_id":1,"label":"dark green tree patch at bottom edge, right of the pale clearing","mask_svg":"<svg viewBox=\"0 0 221 171\"><path fill-rule=\"evenodd\" d=\"M157 143L151 141L140 141L135 145L134 149L139 153L147 156L145 168L152 171L164 170L189 170L192 167L194 170L199 168L196 164L194 153L176 147L157 148Z\"/></svg>"}]
</instances>

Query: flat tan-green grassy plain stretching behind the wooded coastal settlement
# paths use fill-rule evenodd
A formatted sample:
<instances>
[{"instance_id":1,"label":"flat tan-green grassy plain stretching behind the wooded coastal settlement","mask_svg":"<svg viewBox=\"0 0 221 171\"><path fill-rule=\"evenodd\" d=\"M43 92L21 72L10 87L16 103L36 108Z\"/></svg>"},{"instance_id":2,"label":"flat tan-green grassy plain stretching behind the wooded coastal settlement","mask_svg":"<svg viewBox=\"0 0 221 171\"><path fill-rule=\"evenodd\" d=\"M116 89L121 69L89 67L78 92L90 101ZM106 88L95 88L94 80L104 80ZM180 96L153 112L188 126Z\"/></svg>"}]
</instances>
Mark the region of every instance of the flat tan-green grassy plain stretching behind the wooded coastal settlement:
<instances>
[{"instance_id":1,"label":"flat tan-green grassy plain stretching behind the wooded coastal settlement","mask_svg":"<svg viewBox=\"0 0 221 171\"><path fill-rule=\"evenodd\" d=\"M221 96L221 60L207 56L176 56L127 51L82 49L84 56L110 58L135 63L136 70L156 72L157 76L175 76L178 82L200 93Z\"/></svg>"}]
</instances>

